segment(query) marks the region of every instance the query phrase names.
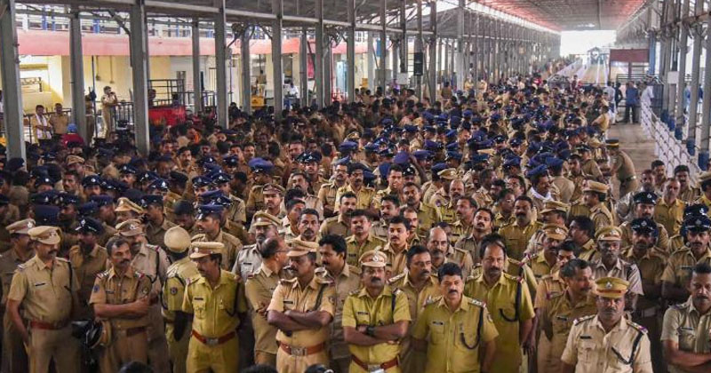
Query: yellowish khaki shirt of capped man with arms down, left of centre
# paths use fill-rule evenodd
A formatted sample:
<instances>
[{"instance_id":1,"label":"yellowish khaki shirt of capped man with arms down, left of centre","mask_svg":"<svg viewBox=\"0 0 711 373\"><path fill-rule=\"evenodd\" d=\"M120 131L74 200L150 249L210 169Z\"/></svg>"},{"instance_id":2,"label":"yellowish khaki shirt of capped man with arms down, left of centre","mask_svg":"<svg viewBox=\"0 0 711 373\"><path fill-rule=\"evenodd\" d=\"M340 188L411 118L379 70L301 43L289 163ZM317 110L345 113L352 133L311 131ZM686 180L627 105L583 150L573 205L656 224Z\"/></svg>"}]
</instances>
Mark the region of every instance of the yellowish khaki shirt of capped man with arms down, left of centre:
<instances>
[{"instance_id":1,"label":"yellowish khaki shirt of capped man with arms down, left of centre","mask_svg":"<svg viewBox=\"0 0 711 373\"><path fill-rule=\"evenodd\" d=\"M236 331L240 313L247 312L244 283L224 269L214 288L203 276L193 277L186 285L182 310L193 314L193 330L204 337L218 338Z\"/></svg>"}]
</instances>

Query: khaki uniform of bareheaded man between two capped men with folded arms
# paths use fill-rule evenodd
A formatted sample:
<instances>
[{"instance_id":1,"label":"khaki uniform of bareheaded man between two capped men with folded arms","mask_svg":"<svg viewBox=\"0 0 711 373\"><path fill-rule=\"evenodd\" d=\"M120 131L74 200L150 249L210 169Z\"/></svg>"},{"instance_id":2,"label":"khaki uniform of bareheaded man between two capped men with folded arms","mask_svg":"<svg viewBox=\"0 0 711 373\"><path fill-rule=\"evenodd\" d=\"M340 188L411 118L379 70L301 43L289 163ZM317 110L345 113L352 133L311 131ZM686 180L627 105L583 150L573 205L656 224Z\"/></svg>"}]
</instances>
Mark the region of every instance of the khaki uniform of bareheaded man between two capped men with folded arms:
<instances>
[{"instance_id":1,"label":"khaki uniform of bareheaded man between two capped men with folded arms","mask_svg":"<svg viewBox=\"0 0 711 373\"><path fill-rule=\"evenodd\" d=\"M316 269L316 275L324 279L324 282L332 282L336 287L336 314L333 315L331 323L331 337L329 337L329 356L333 368L340 368L340 371L347 372L350 365L350 352L348 344L343 337L343 306L346 304L348 295L357 291L361 287L361 269L357 266L343 267L343 271L333 277L324 267Z\"/></svg>"}]
</instances>

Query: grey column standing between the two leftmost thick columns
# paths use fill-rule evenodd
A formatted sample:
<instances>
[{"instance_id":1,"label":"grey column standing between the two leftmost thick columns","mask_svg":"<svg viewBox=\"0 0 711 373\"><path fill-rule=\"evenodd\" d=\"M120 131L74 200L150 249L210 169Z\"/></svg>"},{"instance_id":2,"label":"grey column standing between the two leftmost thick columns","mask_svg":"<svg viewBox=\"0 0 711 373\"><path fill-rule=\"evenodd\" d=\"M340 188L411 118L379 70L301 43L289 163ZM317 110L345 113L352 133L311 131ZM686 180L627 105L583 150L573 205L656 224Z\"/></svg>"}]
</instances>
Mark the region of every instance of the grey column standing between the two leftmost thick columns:
<instances>
[{"instance_id":1,"label":"grey column standing between the two leftmost thick columns","mask_svg":"<svg viewBox=\"0 0 711 373\"><path fill-rule=\"evenodd\" d=\"M72 12L69 19L69 60L72 76L72 117L79 134L92 143L95 131L89 133L86 127L86 107L84 103L84 53L82 52L82 21L79 12ZM94 126L96 127L96 126ZM95 128L94 128L95 130Z\"/></svg>"}]
</instances>

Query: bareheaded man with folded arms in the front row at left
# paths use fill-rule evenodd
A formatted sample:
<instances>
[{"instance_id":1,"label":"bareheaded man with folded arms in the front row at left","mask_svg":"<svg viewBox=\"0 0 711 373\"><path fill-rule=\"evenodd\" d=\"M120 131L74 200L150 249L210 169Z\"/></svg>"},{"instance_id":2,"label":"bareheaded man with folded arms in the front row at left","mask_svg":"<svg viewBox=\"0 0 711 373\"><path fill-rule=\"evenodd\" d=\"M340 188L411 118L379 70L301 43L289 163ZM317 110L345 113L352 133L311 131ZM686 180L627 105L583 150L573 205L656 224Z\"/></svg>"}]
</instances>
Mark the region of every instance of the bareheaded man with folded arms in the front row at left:
<instances>
[{"instance_id":1,"label":"bareheaded man with folded arms in the front row at left","mask_svg":"<svg viewBox=\"0 0 711 373\"><path fill-rule=\"evenodd\" d=\"M97 275L92 289L94 314L102 320L101 373L113 373L129 361L148 362L150 278L132 266L130 243L115 237L107 243L111 266Z\"/></svg>"}]
</instances>

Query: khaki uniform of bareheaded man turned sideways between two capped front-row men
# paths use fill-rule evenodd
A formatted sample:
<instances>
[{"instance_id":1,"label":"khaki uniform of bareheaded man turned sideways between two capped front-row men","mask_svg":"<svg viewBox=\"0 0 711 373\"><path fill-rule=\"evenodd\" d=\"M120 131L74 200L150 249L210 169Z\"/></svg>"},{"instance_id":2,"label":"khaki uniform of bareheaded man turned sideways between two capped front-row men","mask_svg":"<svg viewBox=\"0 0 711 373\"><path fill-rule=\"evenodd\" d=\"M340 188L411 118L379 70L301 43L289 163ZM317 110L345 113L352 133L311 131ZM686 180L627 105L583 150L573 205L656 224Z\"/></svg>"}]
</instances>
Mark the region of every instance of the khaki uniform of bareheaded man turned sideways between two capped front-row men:
<instances>
[{"instance_id":1,"label":"khaki uniform of bareheaded man turned sideways between two capped front-row men","mask_svg":"<svg viewBox=\"0 0 711 373\"><path fill-rule=\"evenodd\" d=\"M256 273L247 278L245 292L248 305L252 311L252 328L254 329L254 350L263 353L276 354L276 327L269 325L267 316L254 310L269 306L272 294L279 284L281 276L272 272L262 264Z\"/></svg>"}]
</instances>

